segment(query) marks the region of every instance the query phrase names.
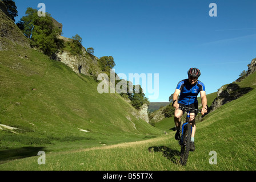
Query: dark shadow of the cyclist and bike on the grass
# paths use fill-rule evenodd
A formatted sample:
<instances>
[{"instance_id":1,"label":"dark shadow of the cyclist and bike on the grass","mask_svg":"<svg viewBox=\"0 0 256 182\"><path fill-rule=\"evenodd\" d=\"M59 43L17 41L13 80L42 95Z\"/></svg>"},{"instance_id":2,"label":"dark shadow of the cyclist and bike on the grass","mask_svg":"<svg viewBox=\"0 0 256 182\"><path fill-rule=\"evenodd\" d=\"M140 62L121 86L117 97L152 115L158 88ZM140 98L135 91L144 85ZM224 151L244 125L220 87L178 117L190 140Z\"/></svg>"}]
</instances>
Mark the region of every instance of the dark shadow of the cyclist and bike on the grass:
<instances>
[{"instance_id":1,"label":"dark shadow of the cyclist and bike on the grass","mask_svg":"<svg viewBox=\"0 0 256 182\"><path fill-rule=\"evenodd\" d=\"M171 160L171 162L173 162L174 164L179 165L180 152L177 151L177 150L173 150L173 149L171 149L169 147L166 147L166 146L153 146L153 147L147 148L147 150L149 152L153 152L153 151L154 152L162 152L163 156L165 156L165 158Z\"/></svg>"}]
</instances>

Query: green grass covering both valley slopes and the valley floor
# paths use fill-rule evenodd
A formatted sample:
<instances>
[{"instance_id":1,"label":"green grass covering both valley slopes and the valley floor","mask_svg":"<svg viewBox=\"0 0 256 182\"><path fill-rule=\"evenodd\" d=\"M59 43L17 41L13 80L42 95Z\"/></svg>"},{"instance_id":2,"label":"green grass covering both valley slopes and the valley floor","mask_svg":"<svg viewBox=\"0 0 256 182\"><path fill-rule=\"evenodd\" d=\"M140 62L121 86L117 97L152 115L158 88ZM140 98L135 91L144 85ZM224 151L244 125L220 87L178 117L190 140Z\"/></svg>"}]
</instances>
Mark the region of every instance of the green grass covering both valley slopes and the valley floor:
<instances>
[{"instance_id":1,"label":"green grass covering both valley slopes and the valley floor","mask_svg":"<svg viewBox=\"0 0 256 182\"><path fill-rule=\"evenodd\" d=\"M0 130L0 170L256 168L256 73L237 83L251 92L197 123L196 150L184 167L172 118L152 127L119 94L98 94L93 78L33 49L15 50L0 52L0 124L18 128ZM37 163L38 151L46 152L45 165ZM211 151L217 165L209 164Z\"/></svg>"}]
</instances>

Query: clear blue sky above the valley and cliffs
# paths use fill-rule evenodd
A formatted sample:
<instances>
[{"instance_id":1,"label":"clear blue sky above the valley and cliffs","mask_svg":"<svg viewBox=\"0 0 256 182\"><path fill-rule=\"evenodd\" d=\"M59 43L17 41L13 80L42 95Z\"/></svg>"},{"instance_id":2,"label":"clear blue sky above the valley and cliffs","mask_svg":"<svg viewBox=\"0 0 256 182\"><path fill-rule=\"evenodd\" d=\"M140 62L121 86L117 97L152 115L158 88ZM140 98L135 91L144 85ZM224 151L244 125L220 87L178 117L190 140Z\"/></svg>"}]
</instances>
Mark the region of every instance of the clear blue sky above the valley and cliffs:
<instances>
[{"instance_id":1,"label":"clear blue sky above the valley and cliffs","mask_svg":"<svg viewBox=\"0 0 256 182\"><path fill-rule=\"evenodd\" d=\"M116 73L159 74L159 97L168 102L191 67L201 70L206 94L235 81L256 57L254 0L15 0L16 22L27 7L63 24L63 36L78 34L97 57L113 56ZM210 3L217 16L209 16ZM154 86L154 79L153 79ZM154 89L154 88L153 88ZM156 89L156 88L155 88ZM147 97L149 94L144 90Z\"/></svg>"}]
</instances>

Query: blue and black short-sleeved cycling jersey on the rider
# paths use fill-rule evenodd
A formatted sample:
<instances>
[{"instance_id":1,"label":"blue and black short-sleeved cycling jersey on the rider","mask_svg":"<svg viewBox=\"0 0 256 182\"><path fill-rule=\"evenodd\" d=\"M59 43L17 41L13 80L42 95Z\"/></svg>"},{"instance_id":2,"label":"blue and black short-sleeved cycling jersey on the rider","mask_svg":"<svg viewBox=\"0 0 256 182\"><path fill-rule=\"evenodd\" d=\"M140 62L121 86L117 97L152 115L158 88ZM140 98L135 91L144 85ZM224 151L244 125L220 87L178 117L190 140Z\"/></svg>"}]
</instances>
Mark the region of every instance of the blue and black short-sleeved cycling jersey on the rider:
<instances>
[{"instance_id":1,"label":"blue and black short-sleeved cycling jersey on the rider","mask_svg":"<svg viewBox=\"0 0 256 182\"><path fill-rule=\"evenodd\" d=\"M205 85L199 80L191 85L189 79L185 79L178 83L177 89L181 90L178 103L190 105L198 103L197 96L199 92L205 91Z\"/></svg>"}]
</instances>

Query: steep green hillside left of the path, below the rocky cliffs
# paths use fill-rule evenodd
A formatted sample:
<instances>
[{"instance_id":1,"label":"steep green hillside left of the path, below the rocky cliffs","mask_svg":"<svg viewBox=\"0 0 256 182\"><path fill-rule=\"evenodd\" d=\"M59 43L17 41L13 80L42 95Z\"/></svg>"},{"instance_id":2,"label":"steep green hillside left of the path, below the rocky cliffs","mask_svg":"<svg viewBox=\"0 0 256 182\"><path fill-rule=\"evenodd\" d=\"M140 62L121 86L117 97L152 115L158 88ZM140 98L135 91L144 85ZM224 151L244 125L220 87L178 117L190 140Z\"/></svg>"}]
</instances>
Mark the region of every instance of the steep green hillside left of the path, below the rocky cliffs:
<instances>
[{"instance_id":1,"label":"steep green hillside left of the path, below the rocky cliffs","mask_svg":"<svg viewBox=\"0 0 256 182\"><path fill-rule=\"evenodd\" d=\"M162 133L132 114L119 94L99 94L93 78L34 49L15 50L0 52L0 124L17 128L0 127L0 149L65 150L78 141L86 148Z\"/></svg>"}]
</instances>

